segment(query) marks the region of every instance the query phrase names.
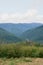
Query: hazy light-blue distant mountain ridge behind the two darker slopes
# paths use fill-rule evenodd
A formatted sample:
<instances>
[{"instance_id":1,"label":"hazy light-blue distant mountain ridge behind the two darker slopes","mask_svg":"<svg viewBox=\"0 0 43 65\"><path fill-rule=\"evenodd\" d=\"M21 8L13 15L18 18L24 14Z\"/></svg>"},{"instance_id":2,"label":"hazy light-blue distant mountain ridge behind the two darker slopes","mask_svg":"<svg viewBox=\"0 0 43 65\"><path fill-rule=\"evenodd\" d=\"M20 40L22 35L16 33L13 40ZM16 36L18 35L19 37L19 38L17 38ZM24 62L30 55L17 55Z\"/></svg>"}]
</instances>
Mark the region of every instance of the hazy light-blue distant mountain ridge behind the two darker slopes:
<instances>
[{"instance_id":1,"label":"hazy light-blue distant mountain ridge behind the two darker slopes","mask_svg":"<svg viewBox=\"0 0 43 65\"><path fill-rule=\"evenodd\" d=\"M5 29L6 31L15 34L16 36L20 36L24 31L32 28L36 28L42 24L40 23L0 23L0 28Z\"/></svg>"}]
</instances>

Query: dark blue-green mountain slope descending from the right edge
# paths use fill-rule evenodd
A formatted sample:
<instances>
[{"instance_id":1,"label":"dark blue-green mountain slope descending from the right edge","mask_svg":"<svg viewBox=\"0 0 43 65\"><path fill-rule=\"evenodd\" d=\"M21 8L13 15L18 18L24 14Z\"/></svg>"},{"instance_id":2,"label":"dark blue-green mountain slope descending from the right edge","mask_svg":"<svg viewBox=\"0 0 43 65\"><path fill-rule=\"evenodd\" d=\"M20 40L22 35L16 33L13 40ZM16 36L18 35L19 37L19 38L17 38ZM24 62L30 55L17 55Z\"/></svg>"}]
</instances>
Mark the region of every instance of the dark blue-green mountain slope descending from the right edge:
<instances>
[{"instance_id":1,"label":"dark blue-green mountain slope descending from the right edge","mask_svg":"<svg viewBox=\"0 0 43 65\"><path fill-rule=\"evenodd\" d=\"M25 31L20 37L23 40L43 42L43 25L31 30Z\"/></svg>"}]
</instances>

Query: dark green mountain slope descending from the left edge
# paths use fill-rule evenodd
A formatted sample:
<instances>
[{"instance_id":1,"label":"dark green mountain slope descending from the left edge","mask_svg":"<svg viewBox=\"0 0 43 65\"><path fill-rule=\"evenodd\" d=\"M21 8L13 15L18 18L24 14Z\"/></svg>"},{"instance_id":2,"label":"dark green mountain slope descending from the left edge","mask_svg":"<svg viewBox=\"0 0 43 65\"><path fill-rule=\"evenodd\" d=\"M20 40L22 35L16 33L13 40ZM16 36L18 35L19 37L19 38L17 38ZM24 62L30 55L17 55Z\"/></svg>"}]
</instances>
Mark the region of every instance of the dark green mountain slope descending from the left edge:
<instances>
[{"instance_id":1,"label":"dark green mountain slope descending from the left edge","mask_svg":"<svg viewBox=\"0 0 43 65\"><path fill-rule=\"evenodd\" d=\"M21 41L12 33L0 28L0 43L14 43Z\"/></svg>"}]
</instances>

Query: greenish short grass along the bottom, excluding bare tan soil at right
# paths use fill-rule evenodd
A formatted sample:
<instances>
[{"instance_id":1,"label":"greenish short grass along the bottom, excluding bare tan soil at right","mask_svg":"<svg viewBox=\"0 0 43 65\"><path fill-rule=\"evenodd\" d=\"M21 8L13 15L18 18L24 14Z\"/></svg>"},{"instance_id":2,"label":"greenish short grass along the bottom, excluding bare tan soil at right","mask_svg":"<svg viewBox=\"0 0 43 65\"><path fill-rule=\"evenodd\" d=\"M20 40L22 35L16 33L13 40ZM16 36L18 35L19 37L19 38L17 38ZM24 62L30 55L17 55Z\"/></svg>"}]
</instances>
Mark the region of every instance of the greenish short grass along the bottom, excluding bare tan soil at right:
<instances>
[{"instance_id":1,"label":"greenish short grass along the bottom, excluding bare tan soil at right","mask_svg":"<svg viewBox=\"0 0 43 65\"><path fill-rule=\"evenodd\" d=\"M5 59L5 58L0 58L0 65L17 65L18 63L25 63L25 62L32 62L31 59L27 58L10 58L10 59Z\"/></svg>"}]
</instances>

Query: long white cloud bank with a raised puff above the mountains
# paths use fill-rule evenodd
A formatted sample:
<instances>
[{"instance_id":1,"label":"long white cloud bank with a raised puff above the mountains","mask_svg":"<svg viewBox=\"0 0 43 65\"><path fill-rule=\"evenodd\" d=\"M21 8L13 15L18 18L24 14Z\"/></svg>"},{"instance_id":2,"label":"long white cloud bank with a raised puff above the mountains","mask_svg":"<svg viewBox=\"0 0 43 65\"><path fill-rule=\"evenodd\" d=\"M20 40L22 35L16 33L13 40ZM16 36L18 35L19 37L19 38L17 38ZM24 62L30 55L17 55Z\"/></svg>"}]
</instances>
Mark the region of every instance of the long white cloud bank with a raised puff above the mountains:
<instances>
[{"instance_id":1,"label":"long white cloud bank with a raised puff above the mountains","mask_svg":"<svg viewBox=\"0 0 43 65\"><path fill-rule=\"evenodd\" d=\"M30 9L24 14L20 13L2 13L0 14L0 23L43 23L43 15L38 14L35 9Z\"/></svg>"}]
</instances>

